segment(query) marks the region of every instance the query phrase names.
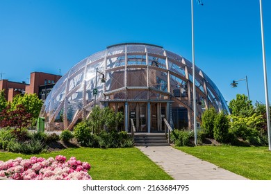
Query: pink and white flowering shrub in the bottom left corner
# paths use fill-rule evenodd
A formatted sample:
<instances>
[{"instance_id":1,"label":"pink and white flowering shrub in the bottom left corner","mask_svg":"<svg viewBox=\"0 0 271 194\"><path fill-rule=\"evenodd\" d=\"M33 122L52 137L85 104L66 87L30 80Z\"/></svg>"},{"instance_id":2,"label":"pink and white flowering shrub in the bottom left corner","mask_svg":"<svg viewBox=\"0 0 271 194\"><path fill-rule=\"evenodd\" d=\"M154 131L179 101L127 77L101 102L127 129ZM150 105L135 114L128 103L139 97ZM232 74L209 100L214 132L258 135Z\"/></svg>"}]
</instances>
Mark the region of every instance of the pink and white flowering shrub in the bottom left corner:
<instances>
[{"instance_id":1,"label":"pink and white flowering shrub in the bottom left corner","mask_svg":"<svg viewBox=\"0 0 271 194\"><path fill-rule=\"evenodd\" d=\"M62 155L56 158L31 157L31 159L10 159L0 161L0 178L16 180L90 180L90 164L71 157L66 162Z\"/></svg>"}]
</instances>

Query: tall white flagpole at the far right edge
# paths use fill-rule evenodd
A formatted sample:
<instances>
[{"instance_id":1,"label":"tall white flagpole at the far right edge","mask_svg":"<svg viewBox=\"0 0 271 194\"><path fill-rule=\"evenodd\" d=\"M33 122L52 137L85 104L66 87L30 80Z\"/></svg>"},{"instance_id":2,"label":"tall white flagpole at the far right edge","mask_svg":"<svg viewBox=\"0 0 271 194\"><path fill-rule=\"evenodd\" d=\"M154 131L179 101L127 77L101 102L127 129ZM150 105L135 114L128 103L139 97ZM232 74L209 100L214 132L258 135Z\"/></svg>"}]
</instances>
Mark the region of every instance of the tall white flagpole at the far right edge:
<instances>
[{"instance_id":1,"label":"tall white flagpole at the far right edge","mask_svg":"<svg viewBox=\"0 0 271 194\"><path fill-rule=\"evenodd\" d=\"M261 6L260 0L260 15L261 15L261 44L263 49L263 76L265 82L265 105L266 105L266 117L267 117L267 124L268 124L268 145L269 150L271 150L271 134L270 134L270 111L269 111L269 100L268 100L268 76L266 72L266 62L265 62L265 41L264 41L264 34L263 34L263 8Z\"/></svg>"}]
</instances>

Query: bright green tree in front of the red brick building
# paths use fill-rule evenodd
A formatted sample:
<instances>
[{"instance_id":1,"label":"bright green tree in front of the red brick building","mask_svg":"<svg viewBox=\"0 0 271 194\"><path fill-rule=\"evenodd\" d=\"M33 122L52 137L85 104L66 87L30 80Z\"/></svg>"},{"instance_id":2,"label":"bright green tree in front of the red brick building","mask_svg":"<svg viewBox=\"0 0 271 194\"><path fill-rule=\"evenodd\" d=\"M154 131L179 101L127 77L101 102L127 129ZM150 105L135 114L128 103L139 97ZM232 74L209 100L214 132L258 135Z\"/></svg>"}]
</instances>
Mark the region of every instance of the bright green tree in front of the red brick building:
<instances>
[{"instance_id":1,"label":"bright green tree in front of the red brick building","mask_svg":"<svg viewBox=\"0 0 271 194\"><path fill-rule=\"evenodd\" d=\"M17 105L23 105L26 112L30 113L33 118L38 118L42 108L42 100L38 98L37 94L17 95L13 98L11 108L15 110Z\"/></svg>"}]
</instances>

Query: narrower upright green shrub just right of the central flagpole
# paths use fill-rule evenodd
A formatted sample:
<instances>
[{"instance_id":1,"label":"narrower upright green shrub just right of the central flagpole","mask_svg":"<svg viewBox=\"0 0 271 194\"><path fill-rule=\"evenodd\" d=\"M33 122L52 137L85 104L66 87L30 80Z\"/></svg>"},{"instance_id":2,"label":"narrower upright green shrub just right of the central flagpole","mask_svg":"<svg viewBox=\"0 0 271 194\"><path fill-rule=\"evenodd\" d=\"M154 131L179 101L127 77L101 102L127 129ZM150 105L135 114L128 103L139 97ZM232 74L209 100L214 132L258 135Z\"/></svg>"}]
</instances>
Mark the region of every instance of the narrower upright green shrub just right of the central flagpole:
<instances>
[{"instance_id":1,"label":"narrower upright green shrub just right of the central flagpole","mask_svg":"<svg viewBox=\"0 0 271 194\"><path fill-rule=\"evenodd\" d=\"M213 138L213 123L215 121L215 116L217 116L217 112L214 107L206 109L204 114L202 114L202 127L204 128L204 133L210 138Z\"/></svg>"}]
</instances>

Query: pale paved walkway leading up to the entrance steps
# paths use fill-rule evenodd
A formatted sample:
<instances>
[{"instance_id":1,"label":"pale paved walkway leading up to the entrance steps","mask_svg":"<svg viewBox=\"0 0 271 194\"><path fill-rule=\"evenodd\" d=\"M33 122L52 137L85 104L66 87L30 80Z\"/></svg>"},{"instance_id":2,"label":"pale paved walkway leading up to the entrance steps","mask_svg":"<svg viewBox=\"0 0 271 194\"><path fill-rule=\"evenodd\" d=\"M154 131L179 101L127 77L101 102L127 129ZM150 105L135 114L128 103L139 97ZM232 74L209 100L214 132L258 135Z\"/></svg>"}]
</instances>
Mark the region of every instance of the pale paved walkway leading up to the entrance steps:
<instances>
[{"instance_id":1,"label":"pale paved walkway leading up to the entrance steps","mask_svg":"<svg viewBox=\"0 0 271 194\"><path fill-rule=\"evenodd\" d=\"M136 147L176 180L245 180L247 178L171 146Z\"/></svg>"}]
</instances>

